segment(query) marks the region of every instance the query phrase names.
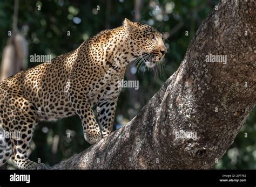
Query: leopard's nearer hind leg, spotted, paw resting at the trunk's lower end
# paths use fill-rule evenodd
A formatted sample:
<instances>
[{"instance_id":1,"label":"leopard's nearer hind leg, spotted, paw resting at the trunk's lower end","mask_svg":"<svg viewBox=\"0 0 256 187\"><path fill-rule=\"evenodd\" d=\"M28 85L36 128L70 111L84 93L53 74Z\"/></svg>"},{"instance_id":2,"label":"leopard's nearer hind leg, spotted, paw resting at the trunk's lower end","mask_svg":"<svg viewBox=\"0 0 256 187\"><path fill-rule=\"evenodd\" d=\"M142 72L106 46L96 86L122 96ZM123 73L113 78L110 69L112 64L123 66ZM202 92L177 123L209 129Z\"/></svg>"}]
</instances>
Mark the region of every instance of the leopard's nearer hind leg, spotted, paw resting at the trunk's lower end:
<instances>
[{"instance_id":1,"label":"leopard's nearer hind leg, spotted, paw resting at the trunk's lower end","mask_svg":"<svg viewBox=\"0 0 256 187\"><path fill-rule=\"evenodd\" d=\"M12 162L19 169L46 169L43 163L32 162L28 159L28 149L32 139L33 129L37 124L37 111L29 100L23 97L8 98L15 107L3 110L3 128L10 133L12 147Z\"/></svg>"}]
</instances>

